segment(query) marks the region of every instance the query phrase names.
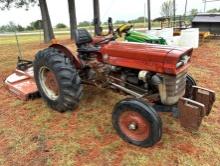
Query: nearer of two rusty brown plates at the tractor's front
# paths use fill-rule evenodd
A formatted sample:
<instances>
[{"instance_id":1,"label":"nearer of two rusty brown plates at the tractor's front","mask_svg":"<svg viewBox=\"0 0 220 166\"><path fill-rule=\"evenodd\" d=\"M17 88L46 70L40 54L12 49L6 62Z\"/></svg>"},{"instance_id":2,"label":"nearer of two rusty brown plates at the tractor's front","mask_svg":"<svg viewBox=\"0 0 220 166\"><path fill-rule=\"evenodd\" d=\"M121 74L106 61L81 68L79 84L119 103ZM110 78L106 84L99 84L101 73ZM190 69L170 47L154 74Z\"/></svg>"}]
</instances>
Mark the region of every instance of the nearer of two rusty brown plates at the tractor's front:
<instances>
[{"instance_id":1,"label":"nearer of two rusty brown plates at the tractor's front","mask_svg":"<svg viewBox=\"0 0 220 166\"><path fill-rule=\"evenodd\" d=\"M187 98L180 98L178 103L180 124L189 130L198 130L205 116L205 105Z\"/></svg>"}]
</instances>

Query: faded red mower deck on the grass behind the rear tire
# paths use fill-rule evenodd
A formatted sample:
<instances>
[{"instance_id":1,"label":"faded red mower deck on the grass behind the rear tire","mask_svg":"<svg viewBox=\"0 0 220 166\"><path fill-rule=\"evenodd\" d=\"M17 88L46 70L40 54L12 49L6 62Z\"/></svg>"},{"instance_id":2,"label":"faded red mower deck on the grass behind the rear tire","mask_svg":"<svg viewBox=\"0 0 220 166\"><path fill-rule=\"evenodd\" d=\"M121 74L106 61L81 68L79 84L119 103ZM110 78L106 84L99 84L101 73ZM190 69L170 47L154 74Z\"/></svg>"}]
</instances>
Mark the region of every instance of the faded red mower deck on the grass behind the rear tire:
<instances>
[{"instance_id":1,"label":"faded red mower deck on the grass behind the rear tire","mask_svg":"<svg viewBox=\"0 0 220 166\"><path fill-rule=\"evenodd\" d=\"M28 100L38 94L38 89L34 80L33 68L26 71L16 69L6 80L8 90L21 100Z\"/></svg>"}]
</instances>

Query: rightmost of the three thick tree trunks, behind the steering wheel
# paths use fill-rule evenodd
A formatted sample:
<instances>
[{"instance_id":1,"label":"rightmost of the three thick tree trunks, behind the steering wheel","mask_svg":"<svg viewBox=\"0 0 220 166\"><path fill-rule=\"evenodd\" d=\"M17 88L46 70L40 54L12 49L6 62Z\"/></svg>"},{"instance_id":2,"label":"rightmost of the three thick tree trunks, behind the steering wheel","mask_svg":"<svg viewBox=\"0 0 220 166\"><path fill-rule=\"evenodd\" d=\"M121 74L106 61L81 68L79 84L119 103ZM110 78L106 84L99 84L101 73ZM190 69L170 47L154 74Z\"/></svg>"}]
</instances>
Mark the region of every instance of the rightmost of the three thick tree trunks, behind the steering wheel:
<instances>
[{"instance_id":1,"label":"rightmost of the three thick tree trunks, behind the steering wheel","mask_svg":"<svg viewBox=\"0 0 220 166\"><path fill-rule=\"evenodd\" d=\"M101 35L99 0L93 0L95 35Z\"/></svg>"}]
</instances>

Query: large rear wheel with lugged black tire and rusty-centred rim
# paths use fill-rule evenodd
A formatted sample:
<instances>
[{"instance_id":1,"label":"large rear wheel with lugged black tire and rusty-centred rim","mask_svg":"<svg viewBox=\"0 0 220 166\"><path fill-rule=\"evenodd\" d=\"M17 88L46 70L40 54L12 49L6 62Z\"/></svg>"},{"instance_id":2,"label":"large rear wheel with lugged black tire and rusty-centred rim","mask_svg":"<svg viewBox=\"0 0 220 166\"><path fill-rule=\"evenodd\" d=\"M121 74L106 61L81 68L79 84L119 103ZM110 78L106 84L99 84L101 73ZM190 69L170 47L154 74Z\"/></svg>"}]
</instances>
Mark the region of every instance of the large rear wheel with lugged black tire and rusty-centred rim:
<instances>
[{"instance_id":1,"label":"large rear wheel with lugged black tire and rusty-centred rim","mask_svg":"<svg viewBox=\"0 0 220 166\"><path fill-rule=\"evenodd\" d=\"M82 85L78 72L65 54L55 48L39 51L34 61L34 77L47 104L59 112L78 106Z\"/></svg>"}]
</instances>

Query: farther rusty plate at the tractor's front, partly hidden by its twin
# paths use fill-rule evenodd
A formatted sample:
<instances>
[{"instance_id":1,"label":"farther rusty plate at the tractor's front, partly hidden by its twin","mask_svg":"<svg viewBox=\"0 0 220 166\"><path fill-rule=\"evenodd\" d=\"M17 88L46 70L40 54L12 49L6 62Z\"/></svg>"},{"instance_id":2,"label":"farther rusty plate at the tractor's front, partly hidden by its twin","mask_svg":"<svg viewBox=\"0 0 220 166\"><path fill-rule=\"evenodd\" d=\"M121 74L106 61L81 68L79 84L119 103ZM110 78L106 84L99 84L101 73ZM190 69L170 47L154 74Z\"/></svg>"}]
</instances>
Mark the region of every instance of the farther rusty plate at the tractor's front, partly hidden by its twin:
<instances>
[{"instance_id":1,"label":"farther rusty plate at the tractor's front, partly hidden by its twin","mask_svg":"<svg viewBox=\"0 0 220 166\"><path fill-rule=\"evenodd\" d=\"M193 100L205 105L205 115L208 116L215 102L215 92L198 86L193 86Z\"/></svg>"}]
</instances>

